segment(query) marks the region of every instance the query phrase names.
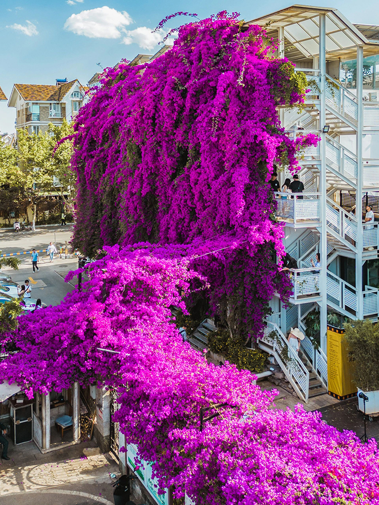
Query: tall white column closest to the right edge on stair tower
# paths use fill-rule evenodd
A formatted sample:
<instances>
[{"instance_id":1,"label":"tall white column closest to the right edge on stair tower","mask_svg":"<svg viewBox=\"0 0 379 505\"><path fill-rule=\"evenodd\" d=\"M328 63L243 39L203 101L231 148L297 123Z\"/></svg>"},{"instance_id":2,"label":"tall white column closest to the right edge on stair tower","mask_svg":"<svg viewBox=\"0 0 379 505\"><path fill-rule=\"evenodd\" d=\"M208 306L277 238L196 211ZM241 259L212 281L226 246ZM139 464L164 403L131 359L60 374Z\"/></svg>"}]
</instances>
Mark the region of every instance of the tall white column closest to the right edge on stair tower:
<instances>
[{"instance_id":1,"label":"tall white column closest to the right edge on stair tower","mask_svg":"<svg viewBox=\"0 0 379 505\"><path fill-rule=\"evenodd\" d=\"M362 164L362 134L363 134L363 47L357 46L357 192L355 196L355 215L357 227L357 255L355 257L355 287L357 290L357 317L363 319L363 293L362 293L362 254L363 254L363 226L362 226L362 193L363 193L363 164Z\"/></svg>"}]
</instances>

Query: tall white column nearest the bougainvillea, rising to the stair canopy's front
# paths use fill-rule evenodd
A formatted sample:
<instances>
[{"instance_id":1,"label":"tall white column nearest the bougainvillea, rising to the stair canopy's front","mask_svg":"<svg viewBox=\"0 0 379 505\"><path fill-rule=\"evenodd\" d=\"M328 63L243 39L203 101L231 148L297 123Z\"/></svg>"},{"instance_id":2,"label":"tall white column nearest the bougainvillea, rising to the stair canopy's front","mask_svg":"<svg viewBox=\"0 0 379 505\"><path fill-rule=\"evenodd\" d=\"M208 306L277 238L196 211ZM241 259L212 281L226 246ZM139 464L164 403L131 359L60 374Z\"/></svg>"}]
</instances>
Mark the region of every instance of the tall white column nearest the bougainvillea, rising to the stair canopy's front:
<instances>
[{"instance_id":1,"label":"tall white column nearest the bougainvillea, rising to the stair canopy's front","mask_svg":"<svg viewBox=\"0 0 379 505\"><path fill-rule=\"evenodd\" d=\"M325 87L326 87L326 60L325 60L325 14L320 14L319 23L319 55L318 62L320 68L320 130L326 122L326 104L325 104ZM326 133L320 132L320 347L326 355L326 330L327 330L327 301L326 301Z\"/></svg>"}]
</instances>

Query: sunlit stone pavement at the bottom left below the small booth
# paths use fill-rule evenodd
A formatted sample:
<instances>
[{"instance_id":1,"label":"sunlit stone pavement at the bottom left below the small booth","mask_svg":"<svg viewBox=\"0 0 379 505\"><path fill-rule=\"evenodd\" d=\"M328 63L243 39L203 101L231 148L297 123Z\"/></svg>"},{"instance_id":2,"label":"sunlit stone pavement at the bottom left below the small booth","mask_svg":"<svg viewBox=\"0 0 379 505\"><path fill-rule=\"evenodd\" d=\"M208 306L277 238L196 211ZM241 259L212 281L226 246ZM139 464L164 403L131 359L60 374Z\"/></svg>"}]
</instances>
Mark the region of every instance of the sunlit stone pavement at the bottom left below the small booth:
<instances>
[{"instance_id":1,"label":"sunlit stone pavement at the bottom left below the small booth","mask_svg":"<svg viewBox=\"0 0 379 505\"><path fill-rule=\"evenodd\" d=\"M93 442L41 454L33 442L10 443L10 461L1 460L2 505L113 505L118 465Z\"/></svg>"}]
</instances>

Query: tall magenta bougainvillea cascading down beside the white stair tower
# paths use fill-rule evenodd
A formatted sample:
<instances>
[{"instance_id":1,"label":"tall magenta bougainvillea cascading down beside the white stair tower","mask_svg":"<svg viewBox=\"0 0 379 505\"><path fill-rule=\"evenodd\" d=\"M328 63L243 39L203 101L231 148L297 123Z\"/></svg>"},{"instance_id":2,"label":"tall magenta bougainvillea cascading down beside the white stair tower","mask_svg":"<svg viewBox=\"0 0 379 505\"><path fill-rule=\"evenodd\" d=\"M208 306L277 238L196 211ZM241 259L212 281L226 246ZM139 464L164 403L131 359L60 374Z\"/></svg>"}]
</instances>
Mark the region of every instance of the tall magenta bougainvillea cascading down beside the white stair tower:
<instances>
[{"instance_id":1,"label":"tall magenta bougainvillea cascading down beside the white stair tower","mask_svg":"<svg viewBox=\"0 0 379 505\"><path fill-rule=\"evenodd\" d=\"M74 242L87 255L140 240L222 249L196 269L211 313L249 336L274 292L291 289L267 181L283 158L296 170L317 137L294 142L280 128L276 107L301 104L304 76L236 16L189 23L159 58L108 70L75 126Z\"/></svg>"}]
</instances>

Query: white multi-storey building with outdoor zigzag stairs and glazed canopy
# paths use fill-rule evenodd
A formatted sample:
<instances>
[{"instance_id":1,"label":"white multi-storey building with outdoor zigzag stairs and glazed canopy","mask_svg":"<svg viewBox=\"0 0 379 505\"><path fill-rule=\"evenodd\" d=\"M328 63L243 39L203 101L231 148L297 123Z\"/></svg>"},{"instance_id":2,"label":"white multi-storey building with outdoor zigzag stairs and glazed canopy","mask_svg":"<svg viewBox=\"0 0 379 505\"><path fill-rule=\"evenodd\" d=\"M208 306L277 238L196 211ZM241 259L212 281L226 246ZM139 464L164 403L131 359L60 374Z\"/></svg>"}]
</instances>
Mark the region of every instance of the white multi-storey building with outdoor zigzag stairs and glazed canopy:
<instances>
[{"instance_id":1,"label":"white multi-storey building with outdoor zigzag stairs and glazed canopy","mask_svg":"<svg viewBox=\"0 0 379 505\"><path fill-rule=\"evenodd\" d=\"M286 251L297 268L289 272L290 304L282 304L278 296L271 300L273 313L259 342L307 402L330 390L328 380L336 367L335 349L328 345L328 316L340 327L345 318L378 319L379 26L353 24L333 8L301 5L249 24L266 26L268 38L278 43L278 54L308 80L304 110L280 109L281 126L294 138L308 132L321 138L299 157L304 192L275 195ZM286 167L281 169L280 186L286 178L292 180ZM370 224L365 224L367 205L375 216ZM291 327L305 332L311 311L320 317L319 344L305 337L297 355L286 336ZM280 358L286 349L291 357L287 362Z\"/></svg>"}]
</instances>

